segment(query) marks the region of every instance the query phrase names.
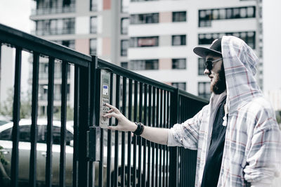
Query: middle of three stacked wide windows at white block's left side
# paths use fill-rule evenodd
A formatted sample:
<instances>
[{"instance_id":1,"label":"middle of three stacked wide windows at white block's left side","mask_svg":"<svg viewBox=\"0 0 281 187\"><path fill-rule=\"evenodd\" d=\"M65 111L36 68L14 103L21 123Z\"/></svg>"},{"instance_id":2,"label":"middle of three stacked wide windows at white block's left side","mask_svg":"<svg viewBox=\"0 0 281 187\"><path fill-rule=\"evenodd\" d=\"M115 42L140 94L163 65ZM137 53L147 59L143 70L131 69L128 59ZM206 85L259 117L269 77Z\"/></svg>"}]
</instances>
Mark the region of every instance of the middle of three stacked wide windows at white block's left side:
<instances>
[{"instance_id":1,"label":"middle of three stacked wide windows at white block's left side","mask_svg":"<svg viewBox=\"0 0 281 187\"><path fill-rule=\"evenodd\" d=\"M130 47L158 46L158 37L132 37Z\"/></svg>"}]
</instances>

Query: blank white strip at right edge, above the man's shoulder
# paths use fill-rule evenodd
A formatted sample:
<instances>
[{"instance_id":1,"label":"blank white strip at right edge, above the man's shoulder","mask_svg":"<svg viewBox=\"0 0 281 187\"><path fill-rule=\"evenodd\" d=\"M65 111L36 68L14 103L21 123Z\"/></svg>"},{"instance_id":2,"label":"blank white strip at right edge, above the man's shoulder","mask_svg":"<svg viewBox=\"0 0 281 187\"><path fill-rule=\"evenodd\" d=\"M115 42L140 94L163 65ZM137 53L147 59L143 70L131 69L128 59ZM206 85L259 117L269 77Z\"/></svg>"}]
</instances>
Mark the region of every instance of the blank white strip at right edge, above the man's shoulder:
<instances>
[{"instance_id":1,"label":"blank white strip at right edge, above the man's shoulder","mask_svg":"<svg viewBox=\"0 0 281 187\"><path fill-rule=\"evenodd\" d=\"M281 110L281 38L279 0L263 1L263 88L275 110Z\"/></svg>"}]
</instances>

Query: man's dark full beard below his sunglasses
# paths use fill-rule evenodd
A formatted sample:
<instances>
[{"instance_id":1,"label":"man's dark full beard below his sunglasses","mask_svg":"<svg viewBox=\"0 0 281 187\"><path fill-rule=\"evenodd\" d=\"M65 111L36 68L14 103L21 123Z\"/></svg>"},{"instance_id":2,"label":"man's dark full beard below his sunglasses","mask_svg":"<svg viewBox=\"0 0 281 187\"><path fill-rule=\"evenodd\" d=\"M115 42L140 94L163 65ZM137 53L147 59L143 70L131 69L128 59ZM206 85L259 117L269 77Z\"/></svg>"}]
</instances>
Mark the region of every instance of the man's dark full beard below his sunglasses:
<instances>
[{"instance_id":1,"label":"man's dark full beard below his sunglasses","mask_svg":"<svg viewBox=\"0 0 281 187\"><path fill-rule=\"evenodd\" d=\"M219 95L223 93L223 91L226 91L226 75L224 72L223 63L221 63L221 70L218 71L216 78L216 82L211 84L211 92Z\"/></svg>"}]
</instances>

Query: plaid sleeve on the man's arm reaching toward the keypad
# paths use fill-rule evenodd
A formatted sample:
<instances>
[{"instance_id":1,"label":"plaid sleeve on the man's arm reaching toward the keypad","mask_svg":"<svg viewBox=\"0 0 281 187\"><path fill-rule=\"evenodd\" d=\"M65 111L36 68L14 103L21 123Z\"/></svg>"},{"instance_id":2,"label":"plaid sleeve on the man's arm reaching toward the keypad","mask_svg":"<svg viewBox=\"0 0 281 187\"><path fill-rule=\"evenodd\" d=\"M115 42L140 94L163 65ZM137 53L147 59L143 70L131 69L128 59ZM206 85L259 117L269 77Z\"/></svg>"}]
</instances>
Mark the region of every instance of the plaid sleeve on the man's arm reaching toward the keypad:
<instances>
[{"instance_id":1,"label":"plaid sleeve on the man's arm reaching toward the keypad","mask_svg":"<svg viewBox=\"0 0 281 187\"><path fill-rule=\"evenodd\" d=\"M197 150L200 124L202 123L202 115L206 109L207 106L182 124L174 124L168 132L168 146L183 146L184 148Z\"/></svg>"}]
</instances>

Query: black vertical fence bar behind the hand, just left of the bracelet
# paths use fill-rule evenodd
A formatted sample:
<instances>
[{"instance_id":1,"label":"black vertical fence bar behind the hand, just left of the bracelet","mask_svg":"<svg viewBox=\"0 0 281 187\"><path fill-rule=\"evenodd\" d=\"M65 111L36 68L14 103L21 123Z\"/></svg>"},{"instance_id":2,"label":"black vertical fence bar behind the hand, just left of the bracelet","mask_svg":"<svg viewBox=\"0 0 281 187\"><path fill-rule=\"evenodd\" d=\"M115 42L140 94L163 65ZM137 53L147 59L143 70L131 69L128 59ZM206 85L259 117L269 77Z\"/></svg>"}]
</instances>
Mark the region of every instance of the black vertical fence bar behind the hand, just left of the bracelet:
<instances>
[{"instance_id":1,"label":"black vertical fence bar behind the hand, just left of the bracelet","mask_svg":"<svg viewBox=\"0 0 281 187\"><path fill-rule=\"evenodd\" d=\"M132 110L132 79L129 79L129 101L128 101L128 119L131 120ZM127 186L131 186L131 131L128 132L128 169L127 169Z\"/></svg>"}]
</instances>

